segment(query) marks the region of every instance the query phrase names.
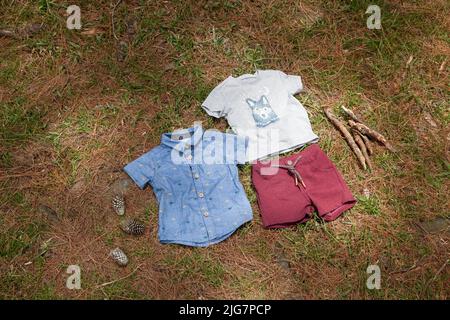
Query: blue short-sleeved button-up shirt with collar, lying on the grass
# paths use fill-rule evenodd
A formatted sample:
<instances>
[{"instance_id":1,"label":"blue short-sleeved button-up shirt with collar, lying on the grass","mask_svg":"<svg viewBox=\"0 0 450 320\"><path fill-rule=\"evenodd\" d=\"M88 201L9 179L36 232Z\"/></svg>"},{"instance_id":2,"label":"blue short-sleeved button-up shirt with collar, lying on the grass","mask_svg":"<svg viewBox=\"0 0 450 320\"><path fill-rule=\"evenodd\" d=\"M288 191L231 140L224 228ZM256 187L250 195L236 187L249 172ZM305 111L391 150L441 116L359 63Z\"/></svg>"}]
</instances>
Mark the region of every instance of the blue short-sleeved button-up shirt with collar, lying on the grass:
<instances>
[{"instance_id":1,"label":"blue short-sleeved button-up shirt with collar, lying on the grass","mask_svg":"<svg viewBox=\"0 0 450 320\"><path fill-rule=\"evenodd\" d=\"M165 133L161 144L129 163L125 172L159 202L159 240L208 246L252 219L236 164L248 140L201 125Z\"/></svg>"}]
</instances>

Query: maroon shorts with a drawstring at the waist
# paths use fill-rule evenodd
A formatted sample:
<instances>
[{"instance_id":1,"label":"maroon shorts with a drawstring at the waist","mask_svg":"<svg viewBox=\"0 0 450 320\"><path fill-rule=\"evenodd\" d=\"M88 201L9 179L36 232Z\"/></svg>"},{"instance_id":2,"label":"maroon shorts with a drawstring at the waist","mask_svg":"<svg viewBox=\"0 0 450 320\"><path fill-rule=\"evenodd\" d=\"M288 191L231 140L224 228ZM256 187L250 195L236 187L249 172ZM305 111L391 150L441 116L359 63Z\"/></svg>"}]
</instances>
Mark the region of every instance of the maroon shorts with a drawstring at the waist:
<instances>
[{"instance_id":1,"label":"maroon shorts with a drawstring at the waist","mask_svg":"<svg viewBox=\"0 0 450 320\"><path fill-rule=\"evenodd\" d=\"M332 221L356 203L341 174L316 144L278 161L257 161L252 180L266 228L306 221L314 211Z\"/></svg>"}]
</instances>

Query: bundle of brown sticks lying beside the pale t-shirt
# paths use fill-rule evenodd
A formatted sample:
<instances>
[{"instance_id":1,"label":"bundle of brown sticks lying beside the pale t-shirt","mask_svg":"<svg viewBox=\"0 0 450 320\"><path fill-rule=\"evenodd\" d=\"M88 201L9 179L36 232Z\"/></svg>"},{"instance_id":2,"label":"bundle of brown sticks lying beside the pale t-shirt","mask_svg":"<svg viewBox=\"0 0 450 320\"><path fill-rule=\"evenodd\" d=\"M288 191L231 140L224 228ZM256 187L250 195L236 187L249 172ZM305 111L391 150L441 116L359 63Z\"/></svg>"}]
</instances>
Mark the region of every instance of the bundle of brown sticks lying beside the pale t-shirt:
<instances>
[{"instance_id":1,"label":"bundle of brown sticks lying beside the pale t-shirt","mask_svg":"<svg viewBox=\"0 0 450 320\"><path fill-rule=\"evenodd\" d=\"M378 142L391 152L396 151L381 133L369 128L353 111L344 106L341 106L341 108L349 118L349 129L331 112L330 108L325 109L324 112L331 123L342 133L364 170L372 170L372 162L369 158L373 154L371 140Z\"/></svg>"}]
</instances>

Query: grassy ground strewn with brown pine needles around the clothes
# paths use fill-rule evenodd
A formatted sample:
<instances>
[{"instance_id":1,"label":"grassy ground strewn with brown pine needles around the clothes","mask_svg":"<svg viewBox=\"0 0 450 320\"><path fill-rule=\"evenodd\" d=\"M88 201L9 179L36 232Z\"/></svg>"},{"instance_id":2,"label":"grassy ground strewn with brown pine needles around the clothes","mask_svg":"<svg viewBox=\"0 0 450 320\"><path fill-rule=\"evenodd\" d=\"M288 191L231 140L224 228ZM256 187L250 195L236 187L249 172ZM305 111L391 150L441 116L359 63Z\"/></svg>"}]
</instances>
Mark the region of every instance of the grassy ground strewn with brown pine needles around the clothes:
<instances>
[{"instance_id":1,"label":"grassy ground strewn with brown pine needles around the clothes","mask_svg":"<svg viewBox=\"0 0 450 320\"><path fill-rule=\"evenodd\" d=\"M114 15L129 43L123 62L113 1L0 4L0 28L45 24L33 37L0 37L0 298L448 299L449 232L420 224L450 215L447 1L127 0ZM71 4L81 31L65 26ZM381 30L366 27L369 4L381 7ZM109 192L120 169L162 132L194 120L226 129L200 103L228 75L257 68L302 76L298 98L358 204L333 223L267 231L243 166L254 220L227 241L159 244L155 198L135 186L127 214L149 228L122 234ZM399 152L377 147L374 171L362 172L322 112L341 104ZM108 258L115 246L127 268ZM65 287L71 264L81 290ZM380 290L365 286L370 264Z\"/></svg>"}]
</instances>

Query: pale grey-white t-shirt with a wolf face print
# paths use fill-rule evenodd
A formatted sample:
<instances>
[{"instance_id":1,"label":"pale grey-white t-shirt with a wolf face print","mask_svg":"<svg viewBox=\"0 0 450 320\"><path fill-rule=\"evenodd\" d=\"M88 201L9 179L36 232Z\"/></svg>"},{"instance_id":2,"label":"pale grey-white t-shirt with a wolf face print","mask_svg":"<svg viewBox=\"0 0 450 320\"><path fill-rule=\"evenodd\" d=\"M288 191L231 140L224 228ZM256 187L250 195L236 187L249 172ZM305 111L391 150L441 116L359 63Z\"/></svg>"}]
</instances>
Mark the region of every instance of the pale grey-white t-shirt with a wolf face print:
<instances>
[{"instance_id":1,"label":"pale grey-white t-shirt with a wolf face print","mask_svg":"<svg viewBox=\"0 0 450 320\"><path fill-rule=\"evenodd\" d=\"M299 76L258 70L228 77L202 107L213 117L225 117L237 135L248 137L248 161L254 161L317 142L305 108L294 97L302 89Z\"/></svg>"}]
</instances>

